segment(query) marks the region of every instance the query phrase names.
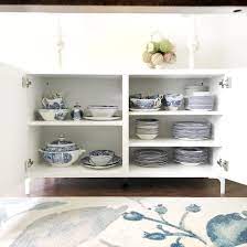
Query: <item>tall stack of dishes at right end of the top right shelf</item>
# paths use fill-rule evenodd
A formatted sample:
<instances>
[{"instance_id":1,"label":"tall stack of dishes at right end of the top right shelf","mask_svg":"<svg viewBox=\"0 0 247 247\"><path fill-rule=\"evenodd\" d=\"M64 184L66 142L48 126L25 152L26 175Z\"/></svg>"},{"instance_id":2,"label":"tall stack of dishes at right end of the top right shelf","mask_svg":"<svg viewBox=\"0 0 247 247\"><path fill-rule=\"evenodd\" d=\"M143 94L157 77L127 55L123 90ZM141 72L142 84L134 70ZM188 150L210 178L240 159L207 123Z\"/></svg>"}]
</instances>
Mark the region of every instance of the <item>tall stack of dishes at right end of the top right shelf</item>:
<instances>
[{"instance_id":1,"label":"tall stack of dishes at right end of the top right shelf","mask_svg":"<svg viewBox=\"0 0 247 247\"><path fill-rule=\"evenodd\" d=\"M184 104L186 110L213 110L215 97L207 86L185 87Z\"/></svg>"}]
</instances>

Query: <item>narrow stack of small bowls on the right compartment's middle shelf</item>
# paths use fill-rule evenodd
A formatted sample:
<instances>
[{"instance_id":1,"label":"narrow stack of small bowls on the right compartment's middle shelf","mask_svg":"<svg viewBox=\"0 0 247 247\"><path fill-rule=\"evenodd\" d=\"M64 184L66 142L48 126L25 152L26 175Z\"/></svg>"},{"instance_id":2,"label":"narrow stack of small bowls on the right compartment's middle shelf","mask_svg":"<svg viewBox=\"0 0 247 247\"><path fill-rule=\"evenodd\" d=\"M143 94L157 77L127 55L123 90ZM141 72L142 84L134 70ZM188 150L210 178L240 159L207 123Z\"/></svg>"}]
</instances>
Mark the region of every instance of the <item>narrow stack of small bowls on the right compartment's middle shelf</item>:
<instances>
[{"instance_id":1,"label":"narrow stack of small bowls on the right compartment's middle shelf","mask_svg":"<svg viewBox=\"0 0 247 247\"><path fill-rule=\"evenodd\" d=\"M137 119L136 135L142 140L152 140L159 135L158 119Z\"/></svg>"}]
</instances>

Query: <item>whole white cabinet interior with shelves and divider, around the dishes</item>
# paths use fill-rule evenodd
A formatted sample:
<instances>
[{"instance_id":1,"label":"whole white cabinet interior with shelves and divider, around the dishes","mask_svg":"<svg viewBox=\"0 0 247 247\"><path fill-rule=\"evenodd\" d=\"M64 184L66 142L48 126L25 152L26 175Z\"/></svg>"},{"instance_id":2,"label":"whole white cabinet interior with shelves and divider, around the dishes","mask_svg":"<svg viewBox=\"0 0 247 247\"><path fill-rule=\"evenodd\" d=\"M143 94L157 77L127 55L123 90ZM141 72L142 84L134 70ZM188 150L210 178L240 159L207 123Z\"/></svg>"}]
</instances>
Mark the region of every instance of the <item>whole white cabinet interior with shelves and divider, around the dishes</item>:
<instances>
[{"instance_id":1,"label":"whole white cabinet interior with shelves and divider, around the dishes","mask_svg":"<svg viewBox=\"0 0 247 247\"><path fill-rule=\"evenodd\" d=\"M214 167L221 153L221 92L219 82L224 74L150 74L150 75L28 75L32 83L28 88L28 125L29 125L29 158L34 165L29 170L33 178L176 178L195 176L212 178ZM208 111L190 112L183 108L179 111L159 111L155 114L135 115L129 111L129 96L131 94L184 94L186 85L204 84L216 97L214 114ZM41 99L51 92L58 92L65 98L68 108L75 103L85 109L88 105L117 105L122 119L118 124L101 125L84 124L82 126L66 122L51 122L43 126L36 117L36 110L42 108ZM164 114L164 115L163 115ZM135 135L135 121L138 118L157 118L160 120L160 133L154 140L140 140ZM69 120L69 117L68 119ZM210 121L212 124L212 140L181 141L172 138L171 128L175 121ZM35 125L32 125L35 122ZM57 169L44 165L39 149L64 133L68 140L76 142L86 150L86 154L95 149L111 149L122 157L122 165L109 170L90 170L82 165ZM193 146L194 144L194 146ZM205 147L208 148L208 163L197 167L183 167L173 162L172 153L175 147ZM132 151L138 148L164 149L169 153L169 163L163 168L141 168L133 164Z\"/></svg>"}]
</instances>

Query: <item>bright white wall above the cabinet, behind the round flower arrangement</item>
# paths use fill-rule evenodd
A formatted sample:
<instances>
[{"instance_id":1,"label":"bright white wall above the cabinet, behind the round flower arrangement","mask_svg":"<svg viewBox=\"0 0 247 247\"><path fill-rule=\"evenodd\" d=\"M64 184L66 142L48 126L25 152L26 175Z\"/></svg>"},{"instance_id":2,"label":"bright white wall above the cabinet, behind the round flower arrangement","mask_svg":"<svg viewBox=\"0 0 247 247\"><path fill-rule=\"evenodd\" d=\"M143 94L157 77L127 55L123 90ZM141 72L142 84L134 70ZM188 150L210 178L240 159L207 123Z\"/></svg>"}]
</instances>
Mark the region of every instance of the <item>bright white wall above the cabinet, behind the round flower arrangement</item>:
<instances>
[{"instance_id":1,"label":"bright white wall above the cabinet, behind the round flower arrangement","mask_svg":"<svg viewBox=\"0 0 247 247\"><path fill-rule=\"evenodd\" d=\"M57 22L64 40L66 69L136 69L150 33L159 30L176 46L187 67L190 20L181 14L0 13L0 62L28 71L57 69ZM196 67L246 66L246 15L196 15L200 50Z\"/></svg>"}]
</instances>

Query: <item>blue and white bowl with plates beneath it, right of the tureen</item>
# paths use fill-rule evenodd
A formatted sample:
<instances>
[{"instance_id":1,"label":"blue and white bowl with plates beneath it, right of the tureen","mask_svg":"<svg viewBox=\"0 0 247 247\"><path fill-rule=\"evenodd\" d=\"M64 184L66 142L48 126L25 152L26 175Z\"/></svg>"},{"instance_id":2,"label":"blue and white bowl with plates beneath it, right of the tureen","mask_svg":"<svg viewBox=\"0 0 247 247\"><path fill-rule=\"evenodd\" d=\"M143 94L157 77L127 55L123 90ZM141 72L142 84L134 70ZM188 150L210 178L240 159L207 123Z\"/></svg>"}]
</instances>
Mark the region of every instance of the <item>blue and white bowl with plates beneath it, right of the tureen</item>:
<instances>
[{"instance_id":1,"label":"blue and white bowl with plates beneath it, right of the tureen","mask_svg":"<svg viewBox=\"0 0 247 247\"><path fill-rule=\"evenodd\" d=\"M88 157L82 159L82 163L86 168L107 169L121 164L121 158L111 150L94 150Z\"/></svg>"}]
</instances>

